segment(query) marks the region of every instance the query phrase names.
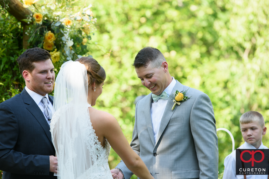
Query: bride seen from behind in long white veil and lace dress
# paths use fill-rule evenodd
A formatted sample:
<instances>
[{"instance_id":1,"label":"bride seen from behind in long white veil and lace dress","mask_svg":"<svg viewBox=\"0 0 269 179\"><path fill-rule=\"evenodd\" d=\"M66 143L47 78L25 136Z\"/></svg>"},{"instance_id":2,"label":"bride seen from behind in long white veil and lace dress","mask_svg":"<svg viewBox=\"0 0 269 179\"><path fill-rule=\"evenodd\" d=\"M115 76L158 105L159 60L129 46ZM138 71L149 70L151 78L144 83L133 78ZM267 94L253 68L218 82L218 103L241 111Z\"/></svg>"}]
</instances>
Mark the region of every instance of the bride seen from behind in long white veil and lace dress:
<instances>
[{"instance_id":1,"label":"bride seen from behind in long white veil and lace dress","mask_svg":"<svg viewBox=\"0 0 269 179\"><path fill-rule=\"evenodd\" d=\"M113 178L108 165L111 145L137 177L153 179L130 147L116 118L92 107L102 93L105 78L105 70L90 57L61 66L55 82L55 113L51 121L58 178Z\"/></svg>"}]
</instances>

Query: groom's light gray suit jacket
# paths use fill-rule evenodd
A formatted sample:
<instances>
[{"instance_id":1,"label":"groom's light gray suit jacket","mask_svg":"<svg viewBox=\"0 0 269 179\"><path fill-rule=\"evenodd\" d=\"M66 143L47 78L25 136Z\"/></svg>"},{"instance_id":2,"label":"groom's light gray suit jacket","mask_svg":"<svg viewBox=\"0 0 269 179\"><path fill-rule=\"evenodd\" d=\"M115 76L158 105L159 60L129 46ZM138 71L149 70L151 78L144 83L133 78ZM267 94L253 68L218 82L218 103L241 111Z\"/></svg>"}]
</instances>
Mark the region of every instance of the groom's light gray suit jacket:
<instances>
[{"instance_id":1,"label":"groom's light gray suit jacket","mask_svg":"<svg viewBox=\"0 0 269 179\"><path fill-rule=\"evenodd\" d=\"M178 81L172 91L189 87ZM136 104L131 147L140 155L155 179L217 179L218 141L212 103L194 88L186 102L176 105L168 99L157 141L154 139L150 107L152 93ZM129 179L133 173L124 162L117 165Z\"/></svg>"}]
</instances>

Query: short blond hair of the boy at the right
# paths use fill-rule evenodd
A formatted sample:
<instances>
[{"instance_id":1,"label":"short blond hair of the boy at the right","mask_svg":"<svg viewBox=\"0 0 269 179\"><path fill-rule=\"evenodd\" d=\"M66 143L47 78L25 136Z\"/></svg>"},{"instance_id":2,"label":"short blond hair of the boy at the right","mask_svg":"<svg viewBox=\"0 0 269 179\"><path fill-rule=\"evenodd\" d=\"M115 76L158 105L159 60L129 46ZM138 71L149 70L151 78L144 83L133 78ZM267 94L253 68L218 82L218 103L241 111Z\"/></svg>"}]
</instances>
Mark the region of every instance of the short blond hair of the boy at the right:
<instances>
[{"instance_id":1,"label":"short blond hair of the boy at the right","mask_svg":"<svg viewBox=\"0 0 269 179\"><path fill-rule=\"evenodd\" d=\"M260 114L257 111L248 111L240 117L240 128L241 128L241 124L248 124L248 123L252 123L256 121L258 121L259 125L262 128L265 126L264 118L262 114Z\"/></svg>"}]
</instances>

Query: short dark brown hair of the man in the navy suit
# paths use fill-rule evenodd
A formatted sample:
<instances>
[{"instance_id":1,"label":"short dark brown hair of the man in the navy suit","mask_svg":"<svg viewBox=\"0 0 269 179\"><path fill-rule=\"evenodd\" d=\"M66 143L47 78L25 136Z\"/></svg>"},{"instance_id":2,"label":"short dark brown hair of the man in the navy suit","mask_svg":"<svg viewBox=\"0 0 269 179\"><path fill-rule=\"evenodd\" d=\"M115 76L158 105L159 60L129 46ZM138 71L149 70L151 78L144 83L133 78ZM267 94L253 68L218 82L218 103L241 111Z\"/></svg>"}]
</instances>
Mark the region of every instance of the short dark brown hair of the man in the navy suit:
<instances>
[{"instance_id":1,"label":"short dark brown hair of the man in the navy suit","mask_svg":"<svg viewBox=\"0 0 269 179\"><path fill-rule=\"evenodd\" d=\"M42 48L29 48L23 52L18 58L17 62L19 64L20 73L27 70L29 73L32 73L35 69L33 62L51 60L51 54Z\"/></svg>"}]
</instances>

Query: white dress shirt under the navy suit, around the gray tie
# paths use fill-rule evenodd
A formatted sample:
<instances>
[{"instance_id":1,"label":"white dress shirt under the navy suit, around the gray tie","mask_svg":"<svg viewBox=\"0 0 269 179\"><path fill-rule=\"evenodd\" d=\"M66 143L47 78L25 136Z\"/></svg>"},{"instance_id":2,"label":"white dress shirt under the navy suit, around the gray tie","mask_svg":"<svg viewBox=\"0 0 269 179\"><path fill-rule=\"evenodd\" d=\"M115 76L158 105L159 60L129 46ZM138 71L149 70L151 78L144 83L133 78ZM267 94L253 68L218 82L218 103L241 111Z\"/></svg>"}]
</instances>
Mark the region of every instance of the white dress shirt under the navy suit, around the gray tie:
<instances>
[{"instance_id":1,"label":"white dress shirt under the navy suit, around the gray tie","mask_svg":"<svg viewBox=\"0 0 269 179\"><path fill-rule=\"evenodd\" d=\"M33 100L37 103L38 107L40 108L40 110L42 111L42 113L44 114L44 117L46 118L47 122L48 122L48 125L49 125L49 120L47 118L47 116L45 115L44 113L44 105L43 103L41 102L41 99L43 98L42 95L40 94L37 94L36 92L30 90L29 88L27 88L27 86L25 86L25 90L27 91L27 93L31 96L31 98L33 98ZM49 98L48 98L48 94L45 95L45 97L48 99L48 107L50 108L52 114L54 113L54 110L53 110L53 105L52 103L49 101Z\"/></svg>"}]
</instances>

